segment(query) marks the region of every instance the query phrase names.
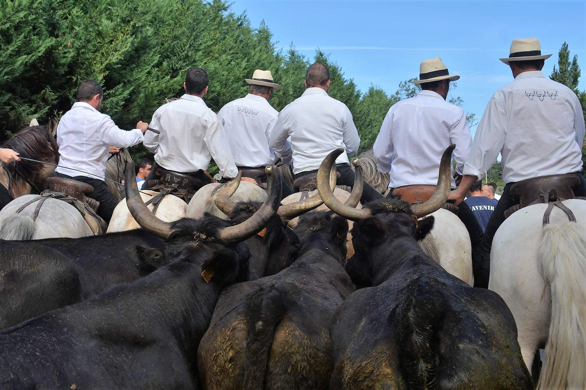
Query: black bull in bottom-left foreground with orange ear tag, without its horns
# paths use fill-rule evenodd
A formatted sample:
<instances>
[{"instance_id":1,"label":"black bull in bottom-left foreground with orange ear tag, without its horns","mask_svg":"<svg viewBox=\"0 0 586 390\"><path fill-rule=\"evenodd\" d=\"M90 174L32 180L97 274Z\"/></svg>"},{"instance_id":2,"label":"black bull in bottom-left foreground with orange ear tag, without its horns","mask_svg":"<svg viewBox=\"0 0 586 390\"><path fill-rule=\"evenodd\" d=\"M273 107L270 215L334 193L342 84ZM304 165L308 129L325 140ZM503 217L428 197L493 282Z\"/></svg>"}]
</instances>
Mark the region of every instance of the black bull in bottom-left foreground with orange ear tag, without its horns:
<instances>
[{"instance_id":1,"label":"black bull in bottom-left foreground with orange ear tag, without its horns","mask_svg":"<svg viewBox=\"0 0 586 390\"><path fill-rule=\"evenodd\" d=\"M174 223L173 261L131 284L0 332L6 388L199 388L196 350L220 291L248 277L246 244L217 237L229 222ZM202 270L212 270L207 283Z\"/></svg>"}]
</instances>

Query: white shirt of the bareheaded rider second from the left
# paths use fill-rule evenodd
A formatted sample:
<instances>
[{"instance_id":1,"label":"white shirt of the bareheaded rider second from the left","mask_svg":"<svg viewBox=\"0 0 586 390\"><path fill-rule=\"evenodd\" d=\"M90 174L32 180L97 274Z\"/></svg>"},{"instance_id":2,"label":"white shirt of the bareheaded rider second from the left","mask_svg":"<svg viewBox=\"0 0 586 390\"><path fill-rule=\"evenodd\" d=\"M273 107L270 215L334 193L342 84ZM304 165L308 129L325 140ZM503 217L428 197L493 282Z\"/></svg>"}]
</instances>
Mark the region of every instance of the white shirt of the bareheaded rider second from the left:
<instances>
[{"instance_id":1,"label":"white shirt of the bareheaded rider second from the left","mask_svg":"<svg viewBox=\"0 0 586 390\"><path fill-rule=\"evenodd\" d=\"M162 105L151 127L161 134L147 131L144 146L166 170L205 171L213 156L223 177L238 174L222 122L199 96L185 94Z\"/></svg>"}]
</instances>

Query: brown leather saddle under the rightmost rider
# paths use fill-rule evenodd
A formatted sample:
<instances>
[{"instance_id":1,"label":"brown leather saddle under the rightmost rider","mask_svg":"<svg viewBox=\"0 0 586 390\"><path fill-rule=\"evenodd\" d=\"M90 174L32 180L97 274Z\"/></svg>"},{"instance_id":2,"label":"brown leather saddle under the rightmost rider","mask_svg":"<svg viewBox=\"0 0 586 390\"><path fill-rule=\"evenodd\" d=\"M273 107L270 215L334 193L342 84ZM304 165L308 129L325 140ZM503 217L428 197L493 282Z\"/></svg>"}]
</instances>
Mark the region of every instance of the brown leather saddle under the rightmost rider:
<instances>
[{"instance_id":1,"label":"brown leather saddle under the rightmost rider","mask_svg":"<svg viewBox=\"0 0 586 390\"><path fill-rule=\"evenodd\" d=\"M572 199L574 198L572 188L578 187L579 184L580 179L571 174L541 176L513 184L511 195L520 199L523 208L539 201L542 194L549 194L552 189L556 189L559 200ZM544 196L549 199L549 195Z\"/></svg>"}]
</instances>

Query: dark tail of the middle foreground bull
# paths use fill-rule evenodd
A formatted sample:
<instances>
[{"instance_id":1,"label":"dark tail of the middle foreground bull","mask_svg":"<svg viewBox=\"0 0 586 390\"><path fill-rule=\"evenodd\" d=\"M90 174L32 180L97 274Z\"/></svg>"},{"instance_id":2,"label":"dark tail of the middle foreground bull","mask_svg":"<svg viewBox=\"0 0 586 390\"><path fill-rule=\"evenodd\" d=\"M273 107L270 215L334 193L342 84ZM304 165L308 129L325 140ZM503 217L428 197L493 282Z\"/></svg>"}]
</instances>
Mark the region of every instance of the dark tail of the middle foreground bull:
<instances>
[{"instance_id":1,"label":"dark tail of the middle foreground bull","mask_svg":"<svg viewBox=\"0 0 586 390\"><path fill-rule=\"evenodd\" d=\"M285 311L282 292L271 285L261 287L253 296L248 317L245 389L263 389L275 327Z\"/></svg>"}]
</instances>

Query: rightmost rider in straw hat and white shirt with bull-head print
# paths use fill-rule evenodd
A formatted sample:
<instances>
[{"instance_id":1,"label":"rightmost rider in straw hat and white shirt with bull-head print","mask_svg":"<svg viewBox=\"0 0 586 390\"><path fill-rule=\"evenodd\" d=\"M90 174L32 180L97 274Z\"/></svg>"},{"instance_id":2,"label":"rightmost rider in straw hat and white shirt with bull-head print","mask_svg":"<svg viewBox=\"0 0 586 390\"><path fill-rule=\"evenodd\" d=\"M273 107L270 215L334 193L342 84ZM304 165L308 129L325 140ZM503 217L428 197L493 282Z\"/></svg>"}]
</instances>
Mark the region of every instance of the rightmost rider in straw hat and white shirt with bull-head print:
<instances>
[{"instance_id":1,"label":"rightmost rider in straw hat and white shirt with bull-head print","mask_svg":"<svg viewBox=\"0 0 586 390\"><path fill-rule=\"evenodd\" d=\"M546 175L574 174L580 178L574 194L586 195L586 180L581 174L584 113L570 88L541 73L550 56L541 54L539 40L529 38L513 40L509 57L500 58L509 65L515 80L490 98L464 164L464 177L449 196L461 201L501 154L506 185L482 240L487 280L492 239L505 220L505 211L519 204L510 194L513 184Z\"/></svg>"}]
</instances>

